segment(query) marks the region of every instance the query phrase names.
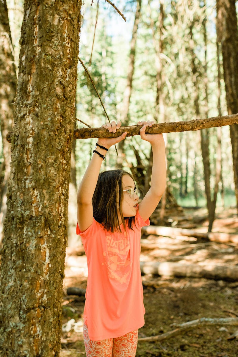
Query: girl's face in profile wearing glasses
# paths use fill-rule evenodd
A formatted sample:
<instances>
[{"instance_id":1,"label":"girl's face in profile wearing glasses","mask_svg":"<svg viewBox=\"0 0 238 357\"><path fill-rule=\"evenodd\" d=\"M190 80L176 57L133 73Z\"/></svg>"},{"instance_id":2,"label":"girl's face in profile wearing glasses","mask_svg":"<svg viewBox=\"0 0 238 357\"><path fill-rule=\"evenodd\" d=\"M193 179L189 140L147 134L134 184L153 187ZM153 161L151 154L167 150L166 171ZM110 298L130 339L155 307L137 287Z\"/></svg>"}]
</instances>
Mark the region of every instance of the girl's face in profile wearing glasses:
<instances>
[{"instance_id":1,"label":"girl's face in profile wearing glasses","mask_svg":"<svg viewBox=\"0 0 238 357\"><path fill-rule=\"evenodd\" d=\"M123 217L133 217L136 215L136 211L138 210L139 196L136 193L134 193L133 197L130 197L129 192L124 191L124 190L128 190L129 188L132 188L132 190L134 191L135 182L133 178L131 178L129 175L123 175L122 176L123 192L122 192L122 206L121 206ZM121 223L120 212L118 209L117 212Z\"/></svg>"}]
</instances>

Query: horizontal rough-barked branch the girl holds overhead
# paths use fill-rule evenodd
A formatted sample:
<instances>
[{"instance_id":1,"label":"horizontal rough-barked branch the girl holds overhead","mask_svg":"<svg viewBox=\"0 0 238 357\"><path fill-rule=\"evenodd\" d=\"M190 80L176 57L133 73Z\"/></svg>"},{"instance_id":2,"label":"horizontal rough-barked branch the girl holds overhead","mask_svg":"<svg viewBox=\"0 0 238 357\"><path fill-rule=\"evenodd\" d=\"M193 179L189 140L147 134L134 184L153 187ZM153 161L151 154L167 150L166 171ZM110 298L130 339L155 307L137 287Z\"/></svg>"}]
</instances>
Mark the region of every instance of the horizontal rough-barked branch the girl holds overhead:
<instances>
[{"instance_id":1,"label":"horizontal rough-barked branch the girl holds overhead","mask_svg":"<svg viewBox=\"0 0 238 357\"><path fill-rule=\"evenodd\" d=\"M181 131L194 131L217 126L238 124L238 114L216 116L208 119L194 119L189 121L176 121L172 123L154 124L146 128L146 134L161 134ZM141 125L123 126L116 133L110 133L105 128L80 128L74 130L74 139L92 139L98 137L117 137L127 131L127 136L140 135ZM6 135L6 140L11 142L13 132ZM17 133L16 133L17 134Z\"/></svg>"}]
</instances>

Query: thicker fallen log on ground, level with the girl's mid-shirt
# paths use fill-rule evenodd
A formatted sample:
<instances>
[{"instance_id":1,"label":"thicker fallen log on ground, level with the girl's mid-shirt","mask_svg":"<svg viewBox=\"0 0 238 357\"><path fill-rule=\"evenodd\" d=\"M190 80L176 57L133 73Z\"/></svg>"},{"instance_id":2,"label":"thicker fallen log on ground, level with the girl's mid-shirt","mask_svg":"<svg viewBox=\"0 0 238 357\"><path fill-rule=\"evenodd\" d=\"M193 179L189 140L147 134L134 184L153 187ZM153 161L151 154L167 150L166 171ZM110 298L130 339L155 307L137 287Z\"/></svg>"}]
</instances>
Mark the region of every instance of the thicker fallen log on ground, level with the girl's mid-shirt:
<instances>
[{"instance_id":1,"label":"thicker fallen log on ground, level with the girl's mid-shirt","mask_svg":"<svg viewBox=\"0 0 238 357\"><path fill-rule=\"evenodd\" d=\"M140 262L142 274L238 281L238 266Z\"/></svg>"}]
</instances>

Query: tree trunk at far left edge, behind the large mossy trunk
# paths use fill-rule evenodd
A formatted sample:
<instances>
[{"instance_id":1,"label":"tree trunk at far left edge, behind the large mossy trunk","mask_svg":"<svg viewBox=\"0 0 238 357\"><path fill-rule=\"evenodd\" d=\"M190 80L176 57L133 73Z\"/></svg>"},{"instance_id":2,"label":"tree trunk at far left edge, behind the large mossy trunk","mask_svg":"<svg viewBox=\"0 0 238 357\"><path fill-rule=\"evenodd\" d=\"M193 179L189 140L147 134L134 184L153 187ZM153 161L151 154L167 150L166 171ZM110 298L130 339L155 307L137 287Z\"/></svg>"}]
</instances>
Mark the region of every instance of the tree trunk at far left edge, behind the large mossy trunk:
<instances>
[{"instance_id":1,"label":"tree trunk at far left edge, behind the large mossy trunk","mask_svg":"<svg viewBox=\"0 0 238 357\"><path fill-rule=\"evenodd\" d=\"M4 161L0 177L0 227L6 216L6 187L10 175L11 145L6 134L12 131L16 96L16 69L6 0L0 1L0 123ZM0 232L0 246L2 231Z\"/></svg>"}]
</instances>

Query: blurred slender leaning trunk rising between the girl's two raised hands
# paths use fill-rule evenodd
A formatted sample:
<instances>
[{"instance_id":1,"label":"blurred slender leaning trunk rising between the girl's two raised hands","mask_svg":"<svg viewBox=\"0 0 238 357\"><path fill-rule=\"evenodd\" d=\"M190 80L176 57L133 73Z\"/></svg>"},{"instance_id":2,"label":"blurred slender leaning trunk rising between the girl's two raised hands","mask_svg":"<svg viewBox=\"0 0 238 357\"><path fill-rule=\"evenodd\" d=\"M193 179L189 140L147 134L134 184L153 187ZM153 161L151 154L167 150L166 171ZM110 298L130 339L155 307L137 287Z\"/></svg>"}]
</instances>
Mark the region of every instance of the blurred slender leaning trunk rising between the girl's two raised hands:
<instances>
[{"instance_id":1,"label":"blurred slender leaning trunk rising between the girl's two raised hands","mask_svg":"<svg viewBox=\"0 0 238 357\"><path fill-rule=\"evenodd\" d=\"M131 91L132 91L132 80L133 80L133 74L134 74L135 54L136 54L137 30L138 30L140 15L141 15L141 0L137 0L135 21L134 21L134 26L133 26L133 30L132 30L131 49L130 49L130 55L129 55L129 65L128 65L126 88L124 91L124 97L123 97L123 102L122 102L122 112L121 112L122 125L129 124L129 106L130 106ZM125 141L122 140L117 145L117 151L118 151L117 167L118 167L118 169L121 169L123 166L124 144L125 144Z\"/></svg>"}]
</instances>

